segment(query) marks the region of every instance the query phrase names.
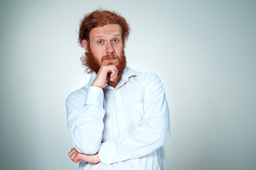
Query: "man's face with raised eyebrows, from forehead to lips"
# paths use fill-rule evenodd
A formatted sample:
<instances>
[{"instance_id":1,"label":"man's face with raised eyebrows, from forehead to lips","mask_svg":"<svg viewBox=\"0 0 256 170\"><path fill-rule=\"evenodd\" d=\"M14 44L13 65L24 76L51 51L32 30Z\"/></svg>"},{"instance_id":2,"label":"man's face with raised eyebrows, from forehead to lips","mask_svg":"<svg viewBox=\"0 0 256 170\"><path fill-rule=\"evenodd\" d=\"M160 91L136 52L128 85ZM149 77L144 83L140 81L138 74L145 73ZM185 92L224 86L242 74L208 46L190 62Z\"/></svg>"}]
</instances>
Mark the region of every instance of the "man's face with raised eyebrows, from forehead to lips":
<instances>
[{"instance_id":1,"label":"man's face with raised eyebrows, from forehead to lips","mask_svg":"<svg viewBox=\"0 0 256 170\"><path fill-rule=\"evenodd\" d=\"M95 27L89 33L90 50L102 65L117 65L119 63L113 55L121 57L123 51L124 40L121 30L119 24L107 24ZM89 43L84 40L83 44L85 51L89 51ZM105 57L102 58L103 56Z\"/></svg>"}]
</instances>

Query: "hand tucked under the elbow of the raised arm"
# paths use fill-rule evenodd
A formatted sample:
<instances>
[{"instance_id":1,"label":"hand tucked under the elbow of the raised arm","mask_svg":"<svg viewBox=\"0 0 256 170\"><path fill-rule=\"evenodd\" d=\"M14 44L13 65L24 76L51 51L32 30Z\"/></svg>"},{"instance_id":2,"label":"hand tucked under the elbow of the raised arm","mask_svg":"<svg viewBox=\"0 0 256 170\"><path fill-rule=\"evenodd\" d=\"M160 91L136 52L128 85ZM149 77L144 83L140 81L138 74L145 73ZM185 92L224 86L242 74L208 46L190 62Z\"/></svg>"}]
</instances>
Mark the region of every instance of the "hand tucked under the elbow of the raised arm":
<instances>
[{"instance_id":1,"label":"hand tucked under the elbow of the raised arm","mask_svg":"<svg viewBox=\"0 0 256 170\"><path fill-rule=\"evenodd\" d=\"M86 155L83 153L78 152L75 148L72 148L68 153L70 159L75 163L80 163L82 160L88 163L99 163L99 154L98 152L94 155Z\"/></svg>"}]
</instances>

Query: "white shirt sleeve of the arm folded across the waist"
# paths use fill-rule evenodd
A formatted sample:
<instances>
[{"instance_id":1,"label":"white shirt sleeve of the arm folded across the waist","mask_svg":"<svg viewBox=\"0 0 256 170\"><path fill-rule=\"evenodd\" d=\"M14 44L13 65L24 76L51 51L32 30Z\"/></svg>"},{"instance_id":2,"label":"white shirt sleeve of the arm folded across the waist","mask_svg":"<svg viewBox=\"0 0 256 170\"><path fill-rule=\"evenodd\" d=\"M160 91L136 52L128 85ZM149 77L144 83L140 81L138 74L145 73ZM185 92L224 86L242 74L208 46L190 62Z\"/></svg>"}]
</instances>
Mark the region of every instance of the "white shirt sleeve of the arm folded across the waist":
<instances>
[{"instance_id":1,"label":"white shirt sleeve of the arm folded across the waist","mask_svg":"<svg viewBox=\"0 0 256 170\"><path fill-rule=\"evenodd\" d=\"M101 144L99 158L104 164L146 156L162 147L170 136L169 110L161 80L155 74L148 74L142 82L145 87L141 126Z\"/></svg>"}]
</instances>

